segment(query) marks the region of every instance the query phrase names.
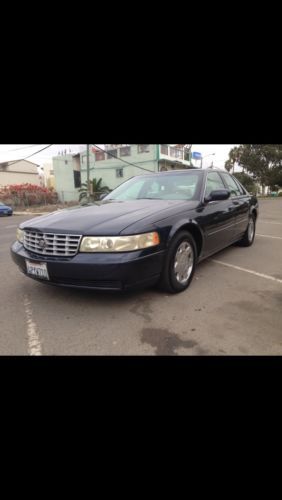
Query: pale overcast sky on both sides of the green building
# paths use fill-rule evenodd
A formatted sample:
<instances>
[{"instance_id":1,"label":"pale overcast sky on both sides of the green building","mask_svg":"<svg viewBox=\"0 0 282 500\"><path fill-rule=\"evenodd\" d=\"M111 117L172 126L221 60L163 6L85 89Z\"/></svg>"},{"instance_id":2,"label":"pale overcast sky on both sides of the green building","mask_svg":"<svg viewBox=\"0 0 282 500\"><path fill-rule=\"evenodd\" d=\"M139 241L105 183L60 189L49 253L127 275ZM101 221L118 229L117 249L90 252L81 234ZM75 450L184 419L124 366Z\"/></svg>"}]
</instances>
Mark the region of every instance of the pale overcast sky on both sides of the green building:
<instances>
[{"instance_id":1,"label":"pale overcast sky on both sides of the green building","mask_svg":"<svg viewBox=\"0 0 282 500\"><path fill-rule=\"evenodd\" d=\"M0 144L0 162L25 158L47 146L48 144ZM238 146L238 144L193 144L192 151L202 153L203 168L211 166L211 162L213 162L214 167L224 168L224 163L228 159L228 153L234 146ZM86 144L52 144L49 148L34 154L30 158L27 158L27 160L42 165L45 162L51 162L52 157L61 151L66 150L67 153L78 153L85 147ZM213 153L215 154L213 155ZM200 161L194 161L194 163L195 166L200 166Z\"/></svg>"}]
</instances>

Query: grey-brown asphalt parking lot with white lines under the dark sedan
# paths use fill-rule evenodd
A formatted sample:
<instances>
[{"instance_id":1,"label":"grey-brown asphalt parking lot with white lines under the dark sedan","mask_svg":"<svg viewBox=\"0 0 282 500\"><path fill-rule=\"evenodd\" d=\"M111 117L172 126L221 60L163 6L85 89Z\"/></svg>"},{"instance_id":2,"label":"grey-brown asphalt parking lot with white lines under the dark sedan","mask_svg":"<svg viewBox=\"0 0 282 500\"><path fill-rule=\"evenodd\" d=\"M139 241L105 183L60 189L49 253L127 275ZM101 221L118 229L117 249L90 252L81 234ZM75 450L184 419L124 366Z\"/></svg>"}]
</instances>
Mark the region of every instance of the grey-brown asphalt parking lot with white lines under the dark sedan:
<instances>
[{"instance_id":1,"label":"grey-brown asphalt parking lot with white lines under the dark sedan","mask_svg":"<svg viewBox=\"0 0 282 500\"><path fill-rule=\"evenodd\" d=\"M281 355L282 199L257 237L198 266L178 295L62 289L22 275L9 247L30 216L0 218L0 355Z\"/></svg>"}]
</instances>

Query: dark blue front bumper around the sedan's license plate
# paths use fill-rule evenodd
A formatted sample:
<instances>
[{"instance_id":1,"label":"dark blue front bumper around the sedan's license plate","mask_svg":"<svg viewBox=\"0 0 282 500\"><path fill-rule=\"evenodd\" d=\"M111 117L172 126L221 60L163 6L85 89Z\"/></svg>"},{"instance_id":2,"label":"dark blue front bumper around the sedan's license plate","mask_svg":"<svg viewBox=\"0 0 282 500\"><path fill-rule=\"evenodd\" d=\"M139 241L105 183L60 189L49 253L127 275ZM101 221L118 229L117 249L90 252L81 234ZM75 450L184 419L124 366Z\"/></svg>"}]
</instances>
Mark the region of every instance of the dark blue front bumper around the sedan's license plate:
<instances>
[{"instance_id":1,"label":"dark blue front bumper around the sedan's license plate","mask_svg":"<svg viewBox=\"0 0 282 500\"><path fill-rule=\"evenodd\" d=\"M156 284L163 268L165 251L153 253L78 253L75 257L46 257L26 250L15 241L11 256L28 277L57 286L93 290L126 290ZM26 259L46 263L49 280L27 274Z\"/></svg>"}]
</instances>

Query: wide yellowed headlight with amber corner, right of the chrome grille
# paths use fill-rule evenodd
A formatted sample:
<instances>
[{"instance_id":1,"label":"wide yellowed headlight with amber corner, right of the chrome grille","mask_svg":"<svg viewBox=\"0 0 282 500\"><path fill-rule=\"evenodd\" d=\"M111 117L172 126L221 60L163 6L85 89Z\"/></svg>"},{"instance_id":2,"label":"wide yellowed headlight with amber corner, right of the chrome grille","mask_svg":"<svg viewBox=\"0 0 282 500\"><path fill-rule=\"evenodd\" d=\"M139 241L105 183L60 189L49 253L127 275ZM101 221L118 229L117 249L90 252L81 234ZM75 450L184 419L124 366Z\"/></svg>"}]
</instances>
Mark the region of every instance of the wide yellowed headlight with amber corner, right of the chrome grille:
<instances>
[{"instance_id":1,"label":"wide yellowed headlight with amber corner, right of the chrome grille","mask_svg":"<svg viewBox=\"0 0 282 500\"><path fill-rule=\"evenodd\" d=\"M80 245L81 252L132 252L159 245L158 233L134 236L85 236Z\"/></svg>"}]
</instances>

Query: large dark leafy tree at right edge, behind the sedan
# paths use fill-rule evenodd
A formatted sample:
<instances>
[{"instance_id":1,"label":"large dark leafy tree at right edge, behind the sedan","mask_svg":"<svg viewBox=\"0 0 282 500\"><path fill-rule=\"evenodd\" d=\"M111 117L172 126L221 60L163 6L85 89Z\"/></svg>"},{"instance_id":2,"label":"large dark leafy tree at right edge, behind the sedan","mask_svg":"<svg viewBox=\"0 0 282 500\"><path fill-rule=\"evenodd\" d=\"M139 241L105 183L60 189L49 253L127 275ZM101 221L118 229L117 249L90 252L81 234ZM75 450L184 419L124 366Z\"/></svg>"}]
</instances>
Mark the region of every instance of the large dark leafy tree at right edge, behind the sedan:
<instances>
[{"instance_id":1,"label":"large dark leafy tree at right edge, behind the sedan","mask_svg":"<svg viewBox=\"0 0 282 500\"><path fill-rule=\"evenodd\" d=\"M229 152L226 170L234 172L235 163L263 187L282 186L282 144L240 144Z\"/></svg>"}]
</instances>

